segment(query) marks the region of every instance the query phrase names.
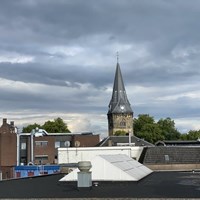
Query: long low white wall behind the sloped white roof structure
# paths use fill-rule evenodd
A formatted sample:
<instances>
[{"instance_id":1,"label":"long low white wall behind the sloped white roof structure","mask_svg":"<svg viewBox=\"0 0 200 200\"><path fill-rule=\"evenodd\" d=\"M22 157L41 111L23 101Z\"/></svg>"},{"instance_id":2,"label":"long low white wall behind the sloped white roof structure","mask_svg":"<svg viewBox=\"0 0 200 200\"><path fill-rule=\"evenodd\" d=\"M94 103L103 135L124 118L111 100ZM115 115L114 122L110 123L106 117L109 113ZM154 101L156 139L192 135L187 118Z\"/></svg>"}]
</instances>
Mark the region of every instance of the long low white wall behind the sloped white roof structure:
<instances>
[{"instance_id":1,"label":"long low white wall behind the sloped white roof structure","mask_svg":"<svg viewBox=\"0 0 200 200\"><path fill-rule=\"evenodd\" d=\"M114 146L114 147L75 147L58 148L58 164L91 161L97 155L124 154L138 160L143 147Z\"/></svg>"}]
</instances>

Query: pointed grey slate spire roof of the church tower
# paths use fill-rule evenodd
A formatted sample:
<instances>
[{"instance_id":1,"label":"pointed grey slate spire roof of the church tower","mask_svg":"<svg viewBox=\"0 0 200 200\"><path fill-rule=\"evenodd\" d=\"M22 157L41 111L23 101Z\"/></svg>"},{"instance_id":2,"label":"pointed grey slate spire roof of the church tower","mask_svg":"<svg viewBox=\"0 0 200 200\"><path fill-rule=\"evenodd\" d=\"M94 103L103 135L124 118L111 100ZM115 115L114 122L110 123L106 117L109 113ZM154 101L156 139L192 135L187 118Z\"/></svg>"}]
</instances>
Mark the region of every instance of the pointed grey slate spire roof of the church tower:
<instances>
[{"instance_id":1,"label":"pointed grey slate spire roof of the church tower","mask_svg":"<svg viewBox=\"0 0 200 200\"><path fill-rule=\"evenodd\" d=\"M119 63L117 63L116 67L112 99L109 104L108 114L111 113L133 113L126 95Z\"/></svg>"}]
</instances>

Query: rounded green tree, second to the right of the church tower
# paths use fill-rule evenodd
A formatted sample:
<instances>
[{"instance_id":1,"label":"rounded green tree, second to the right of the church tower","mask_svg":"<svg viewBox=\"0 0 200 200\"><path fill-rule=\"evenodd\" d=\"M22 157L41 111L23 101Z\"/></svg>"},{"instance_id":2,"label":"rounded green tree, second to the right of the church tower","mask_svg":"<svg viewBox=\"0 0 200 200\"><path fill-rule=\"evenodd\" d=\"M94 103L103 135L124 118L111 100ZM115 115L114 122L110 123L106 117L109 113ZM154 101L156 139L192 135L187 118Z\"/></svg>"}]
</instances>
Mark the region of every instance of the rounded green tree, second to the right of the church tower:
<instances>
[{"instance_id":1,"label":"rounded green tree, second to the right of the church tower","mask_svg":"<svg viewBox=\"0 0 200 200\"><path fill-rule=\"evenodd\" d=\"M160 119L157 124L161 129L161 134L165 140L178 140L180 138L180 132L175 127L175 122L171 118Z\"/></svg>"}]
</instances>

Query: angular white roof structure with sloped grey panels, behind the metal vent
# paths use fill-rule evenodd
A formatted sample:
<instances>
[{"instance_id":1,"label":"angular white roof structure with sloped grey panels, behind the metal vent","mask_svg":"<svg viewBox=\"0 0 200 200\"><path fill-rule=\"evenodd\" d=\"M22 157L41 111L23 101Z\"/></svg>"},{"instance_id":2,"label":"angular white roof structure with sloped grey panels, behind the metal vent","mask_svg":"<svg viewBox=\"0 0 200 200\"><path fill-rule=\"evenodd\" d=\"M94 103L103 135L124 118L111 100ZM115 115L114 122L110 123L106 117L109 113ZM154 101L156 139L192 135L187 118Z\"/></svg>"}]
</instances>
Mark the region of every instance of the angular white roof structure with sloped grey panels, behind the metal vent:
<instances>
[{"instance_id":1,"label":"angular white roof structure with sloped grey panels, behind the metal vent","mask_svg":"<svg viewBox=\"0 0 200 200\"><path fill-rule=\"evenodd\" d=\"M139 181L152 173L136 160L124 154L99 155L91 161L92 181ZM60 181L77 181L78 168Z\"/></svg>"}]
</instances>

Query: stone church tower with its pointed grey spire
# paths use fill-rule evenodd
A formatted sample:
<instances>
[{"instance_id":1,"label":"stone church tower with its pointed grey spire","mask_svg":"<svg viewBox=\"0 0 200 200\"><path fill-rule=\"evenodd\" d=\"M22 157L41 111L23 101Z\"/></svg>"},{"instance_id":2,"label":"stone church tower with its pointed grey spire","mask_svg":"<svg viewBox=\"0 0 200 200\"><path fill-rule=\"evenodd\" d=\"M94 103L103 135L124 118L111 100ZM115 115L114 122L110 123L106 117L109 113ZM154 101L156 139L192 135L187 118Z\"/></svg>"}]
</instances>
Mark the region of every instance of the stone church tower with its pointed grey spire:
<instances>
[{"instance_id":1,"label":"stone church tower with its pointed grey spire","mask_svg":"<svg viewBox=\"0 0 200 200\"><path fill-rule=\"evenodd\" d=\"M109 136L115 135L116 131L133 135L133 111L126 95L118 62L107 116Z\"/></svg>"}]
</instances>

